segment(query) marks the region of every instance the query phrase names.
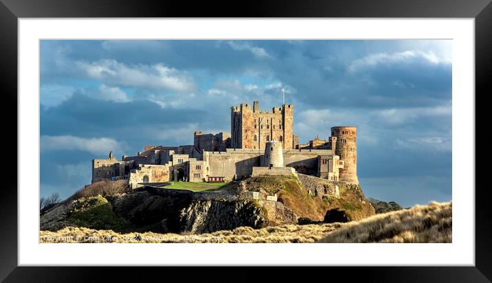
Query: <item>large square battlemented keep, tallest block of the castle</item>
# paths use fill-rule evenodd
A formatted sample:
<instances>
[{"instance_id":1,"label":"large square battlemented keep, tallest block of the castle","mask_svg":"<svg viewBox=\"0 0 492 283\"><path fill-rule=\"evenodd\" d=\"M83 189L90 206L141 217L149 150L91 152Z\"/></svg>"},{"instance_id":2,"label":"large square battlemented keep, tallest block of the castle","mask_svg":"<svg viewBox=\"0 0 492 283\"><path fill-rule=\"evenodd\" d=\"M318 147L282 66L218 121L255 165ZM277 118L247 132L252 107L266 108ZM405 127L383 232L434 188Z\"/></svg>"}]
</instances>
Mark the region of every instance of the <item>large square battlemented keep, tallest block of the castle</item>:
<instances>
[{"instance_id":1,"label":"large square battlemented keep, tallest block of the castle","mask_svg":"<svg viewBox=\"0 0 492 283\"><path fill-rule=\"evenodd\" d=\"M284 104L271 111L259 110L258 101L231 107L231 147L264 149L275 139L284 149L295 148L293 136L294 106Z\"/></svg>"}]
</instances>

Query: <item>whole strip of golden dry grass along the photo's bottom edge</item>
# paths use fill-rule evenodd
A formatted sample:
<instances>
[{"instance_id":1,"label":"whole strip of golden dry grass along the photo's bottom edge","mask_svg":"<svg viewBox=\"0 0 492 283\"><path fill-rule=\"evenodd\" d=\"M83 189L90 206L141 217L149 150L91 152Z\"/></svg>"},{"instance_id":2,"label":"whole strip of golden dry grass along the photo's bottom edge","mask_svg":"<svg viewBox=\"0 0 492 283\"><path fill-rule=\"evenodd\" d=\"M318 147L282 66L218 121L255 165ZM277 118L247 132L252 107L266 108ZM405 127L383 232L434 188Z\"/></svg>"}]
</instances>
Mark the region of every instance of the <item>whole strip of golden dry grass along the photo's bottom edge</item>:
<instances>
[{"instance_id":1,"label":"whole strip of golden dry grass along the photo's bottom edge","mask_svg":"<svg viewBox=\"0 0 492 283\"><path fill-rule=\"evenodd\" d=\"M451 203L430 203L351 223L238 227L210 234L117 234L66 227L41 231L40 242L451 242Z\"/></svg>"}]
</instances>

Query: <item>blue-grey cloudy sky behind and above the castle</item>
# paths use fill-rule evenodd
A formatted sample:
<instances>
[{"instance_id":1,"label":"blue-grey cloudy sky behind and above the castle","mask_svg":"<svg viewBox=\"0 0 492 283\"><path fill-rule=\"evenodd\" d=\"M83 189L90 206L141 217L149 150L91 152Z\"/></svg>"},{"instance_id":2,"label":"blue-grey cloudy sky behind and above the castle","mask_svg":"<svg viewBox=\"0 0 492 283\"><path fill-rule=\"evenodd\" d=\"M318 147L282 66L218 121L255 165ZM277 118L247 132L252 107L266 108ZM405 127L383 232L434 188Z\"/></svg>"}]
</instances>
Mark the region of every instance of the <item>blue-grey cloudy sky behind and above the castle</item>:
<instances>
[{"instance_id":1,"label":"blue-grey cloudy sky behind and above the castle","mask_svg":"<svg viewBox=\"0 0 492 283\"><path fill-rule=\"evenodd\" d=\"M451 200L451 41L42 41L41 196L91 159L230 132L230 106L295 105L305 143L358 127L367 196Z\"/></svg>"}]
</instances>

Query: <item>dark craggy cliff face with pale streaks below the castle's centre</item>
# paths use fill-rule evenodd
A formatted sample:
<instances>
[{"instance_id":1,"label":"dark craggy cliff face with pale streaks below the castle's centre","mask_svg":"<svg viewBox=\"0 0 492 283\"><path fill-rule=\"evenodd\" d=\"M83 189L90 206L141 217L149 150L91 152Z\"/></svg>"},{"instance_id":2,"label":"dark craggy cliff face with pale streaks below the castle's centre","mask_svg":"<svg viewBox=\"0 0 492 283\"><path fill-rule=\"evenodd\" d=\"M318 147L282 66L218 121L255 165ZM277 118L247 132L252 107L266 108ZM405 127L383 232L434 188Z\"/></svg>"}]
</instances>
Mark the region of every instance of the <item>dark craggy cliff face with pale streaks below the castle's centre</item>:
<instances>
[{"instance_id":1,"label":"dark craggy cliff face with pale streaks below the castle's centre","mask_svg":"<svg viewBox=\"0 0 492 283\"><path fill-rule=\"evenodd\" d=\"M262 208L254 201L194 201L179 212L180 231L192 234L230 230L236 227L262 227Z\"/></svg>"}]
</instances>

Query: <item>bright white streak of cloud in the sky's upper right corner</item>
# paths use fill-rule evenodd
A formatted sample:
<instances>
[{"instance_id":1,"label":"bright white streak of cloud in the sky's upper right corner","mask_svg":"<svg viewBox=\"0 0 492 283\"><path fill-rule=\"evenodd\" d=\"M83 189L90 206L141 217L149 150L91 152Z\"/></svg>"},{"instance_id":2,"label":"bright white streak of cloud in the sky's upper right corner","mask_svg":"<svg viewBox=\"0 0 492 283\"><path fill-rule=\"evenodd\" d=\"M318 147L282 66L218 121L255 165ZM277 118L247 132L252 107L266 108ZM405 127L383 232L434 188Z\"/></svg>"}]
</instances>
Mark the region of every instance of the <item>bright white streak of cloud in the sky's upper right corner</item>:
<instances>
[{"instance_id":1,"label":"bright white streak of cloud in the sky's upper right corner","mask_svg":"<svg viewBox=\"0 0 492 283\"><path fill-rule=\"evenodd\" d=\"M410 61L416 59L423 59L434 65L451 64L451 60L449 58L440 58L432 51L423 52L420 50L407 50L404 52L370 54L364 58L353 60L352 63L348 65L348 71L355 72L365 67L374 67L377 65L409 63Z\"/></svg>"}]
</instances>

